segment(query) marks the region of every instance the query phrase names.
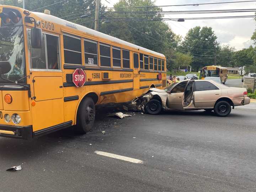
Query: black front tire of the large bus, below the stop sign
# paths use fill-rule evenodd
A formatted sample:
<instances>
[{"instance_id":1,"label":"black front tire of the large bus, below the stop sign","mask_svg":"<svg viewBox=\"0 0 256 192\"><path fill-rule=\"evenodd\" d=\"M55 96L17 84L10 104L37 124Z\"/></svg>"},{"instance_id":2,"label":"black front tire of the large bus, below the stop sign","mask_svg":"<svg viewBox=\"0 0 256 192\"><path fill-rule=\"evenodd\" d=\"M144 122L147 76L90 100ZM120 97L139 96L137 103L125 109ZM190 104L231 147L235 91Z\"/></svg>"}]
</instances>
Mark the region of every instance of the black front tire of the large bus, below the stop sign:
<instances>
[{"instance_id":1,"label":"black front tire of the large bus, below the stop sign","mask_svg":"<svg viewBox=\"0 0 256 192\"><path fill-rule=\"evenodd\" d=\"M76 132L85 134L94 126L95 105L91 97L86 97L79 106L76 119Z\"/></svg>"}]
</instances>

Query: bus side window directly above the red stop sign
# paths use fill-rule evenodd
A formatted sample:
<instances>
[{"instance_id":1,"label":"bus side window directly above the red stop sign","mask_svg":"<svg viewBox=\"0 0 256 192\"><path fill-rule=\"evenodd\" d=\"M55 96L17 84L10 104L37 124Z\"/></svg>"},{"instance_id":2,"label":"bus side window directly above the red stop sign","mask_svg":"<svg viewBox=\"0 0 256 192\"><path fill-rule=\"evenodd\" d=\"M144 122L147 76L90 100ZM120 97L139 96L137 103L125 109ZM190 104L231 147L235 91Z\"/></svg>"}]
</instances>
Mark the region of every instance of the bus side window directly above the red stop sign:
<instances>
[{"instance_id":1,"label":"bus side window directly above the red stop sign","mask_svg":"<svg viewBox=\"0 0 256 192\"><path fill-rule=\"evenodd\" d=\"M68 64L82 64L81 38L63 35L64 62Z\"/></svg>"}]
</instances>

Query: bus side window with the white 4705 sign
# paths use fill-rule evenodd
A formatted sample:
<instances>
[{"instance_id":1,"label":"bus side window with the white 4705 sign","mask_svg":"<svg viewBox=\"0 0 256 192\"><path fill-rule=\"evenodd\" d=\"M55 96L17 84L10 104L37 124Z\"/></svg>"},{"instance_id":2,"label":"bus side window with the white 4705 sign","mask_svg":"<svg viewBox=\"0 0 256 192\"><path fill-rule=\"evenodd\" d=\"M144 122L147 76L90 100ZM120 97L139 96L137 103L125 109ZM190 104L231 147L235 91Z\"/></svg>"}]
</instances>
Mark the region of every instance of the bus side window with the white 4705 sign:
<instances>
[{"instance_id":1,"label":"bus side window with the white 4705 sign","mask_svg":"<svg viewBox=\"0 0 256 192\"><path fill-rule=\"evenodd\" d=\"M84 40L85 64L98 65L98 46L96 41Z\"/></svg>"}]
</instances>

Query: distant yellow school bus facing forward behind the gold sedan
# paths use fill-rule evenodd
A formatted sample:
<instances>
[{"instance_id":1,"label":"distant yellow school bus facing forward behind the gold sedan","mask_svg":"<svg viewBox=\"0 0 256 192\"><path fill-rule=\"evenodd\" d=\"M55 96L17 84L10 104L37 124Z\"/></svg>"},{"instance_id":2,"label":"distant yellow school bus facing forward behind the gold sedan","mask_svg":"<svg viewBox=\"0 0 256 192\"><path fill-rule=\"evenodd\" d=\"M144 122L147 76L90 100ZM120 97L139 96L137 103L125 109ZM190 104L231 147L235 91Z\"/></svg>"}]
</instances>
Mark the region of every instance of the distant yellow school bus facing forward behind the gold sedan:
<instances>
[{"instance_id":1,"label":"distant yellow school bus facing forward behind the gold sedan","mask_svg":"<svg viewBox=\"0 0 256 192\"><path fill-rule=\"evenodd\" d=\"M200 78L204 79L206 77L219 77L220 82L225 85L226 80L228 79L228 69L222 66L205 66L200 71Z\"/></svg>"}]
</instances>

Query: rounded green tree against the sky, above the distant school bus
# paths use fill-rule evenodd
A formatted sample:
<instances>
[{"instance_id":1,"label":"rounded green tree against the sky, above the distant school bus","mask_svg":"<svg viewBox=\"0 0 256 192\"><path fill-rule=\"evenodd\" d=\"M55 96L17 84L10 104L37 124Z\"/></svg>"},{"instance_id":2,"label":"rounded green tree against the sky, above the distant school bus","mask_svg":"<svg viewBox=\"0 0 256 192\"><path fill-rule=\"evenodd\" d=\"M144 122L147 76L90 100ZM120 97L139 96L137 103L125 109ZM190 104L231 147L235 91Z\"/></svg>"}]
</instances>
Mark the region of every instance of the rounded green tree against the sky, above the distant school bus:
<instances>
[{"instance_id":1,"label":"rounded green tree against the sky, above the distant school bus","mask_svg":"<svg viewBox=\"0 0 256 192\"><path fill-rule=\"evenodd\" d=\"M214 64L215 51L219 44L212 27L194 27L188 31L181 44L180 51L193 55L192 67L199 70L203 66Z\"/></svg>"}]
</instances>

